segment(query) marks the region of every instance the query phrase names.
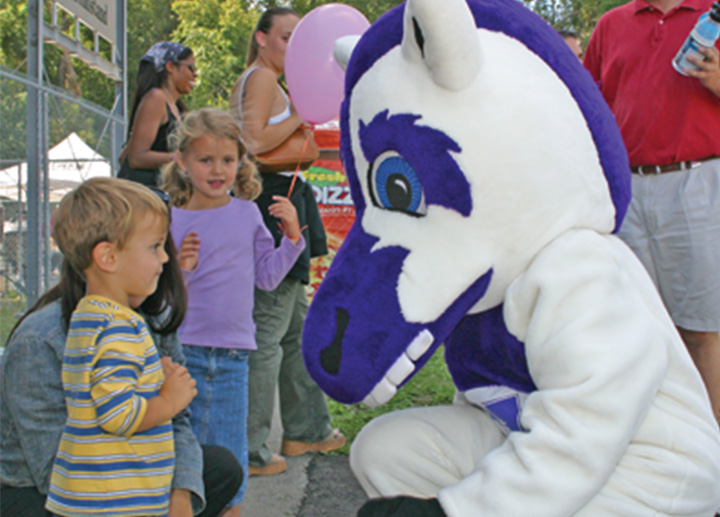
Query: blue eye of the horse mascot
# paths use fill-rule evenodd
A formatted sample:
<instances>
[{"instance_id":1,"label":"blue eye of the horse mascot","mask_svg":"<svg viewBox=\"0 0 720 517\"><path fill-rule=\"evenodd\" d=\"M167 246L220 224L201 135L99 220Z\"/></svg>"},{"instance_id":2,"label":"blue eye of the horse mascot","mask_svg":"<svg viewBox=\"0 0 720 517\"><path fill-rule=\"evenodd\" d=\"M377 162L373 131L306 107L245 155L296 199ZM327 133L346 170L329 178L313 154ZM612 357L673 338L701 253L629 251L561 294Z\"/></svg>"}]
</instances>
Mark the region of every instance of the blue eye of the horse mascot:
<instances>
[{"instance_id":1,"label":"blue eye of the horse mascot","mask_svg":"<svg viewBox=\"0 0 720 517\"><path fill-rule=\"evenodd\" d=\"M427 214L417 172L398 154L386 152L378 156L370 167L369 180L376 206L418 217Z\"/></svg>"}]
</instances>

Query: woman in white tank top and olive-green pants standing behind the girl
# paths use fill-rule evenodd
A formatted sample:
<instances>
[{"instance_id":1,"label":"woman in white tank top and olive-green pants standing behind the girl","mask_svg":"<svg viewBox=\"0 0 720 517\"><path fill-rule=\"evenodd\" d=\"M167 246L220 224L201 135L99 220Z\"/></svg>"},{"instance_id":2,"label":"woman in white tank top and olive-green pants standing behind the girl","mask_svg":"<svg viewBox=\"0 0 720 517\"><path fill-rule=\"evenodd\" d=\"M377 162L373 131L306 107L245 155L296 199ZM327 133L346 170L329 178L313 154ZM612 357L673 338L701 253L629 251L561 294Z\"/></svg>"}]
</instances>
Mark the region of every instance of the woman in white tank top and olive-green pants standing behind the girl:
<instances>
[{"instance_id":1,"label":"woman in white tank top and olive-green pants standing behind the girl","mask_svg":"<svg viewBox=\"0 0 720 517\"><path fill-rule=\"evenodd\" d=\"M304 121L280 83L285 72L285 50L300 21L287 7L267 9L250 40L247 69L233 86L231 110L238 118L243 141L251 154L274 149ZM258 167L263 172L262 167ZM287 195L293 171L265 173L263 194L256 203L271 232L277 223L266 206L272 194ZM283 425L282 454L297 456L310 451L342 447L345 437L330 426L325 395L308 375L301 353L302 328L307 313L307 283L312 256L327 253L322 221L311 188L298 178L290 198L298 210L306 252L280 286L273 291L255 290L253 318L257 350L250 354L248 375L249 474L268 476L287 468L285 458L273 454L266 441L272 423L276 388L280 393ZM273 233L276 235L276 233Z\"/></svg>"}]
</instances>

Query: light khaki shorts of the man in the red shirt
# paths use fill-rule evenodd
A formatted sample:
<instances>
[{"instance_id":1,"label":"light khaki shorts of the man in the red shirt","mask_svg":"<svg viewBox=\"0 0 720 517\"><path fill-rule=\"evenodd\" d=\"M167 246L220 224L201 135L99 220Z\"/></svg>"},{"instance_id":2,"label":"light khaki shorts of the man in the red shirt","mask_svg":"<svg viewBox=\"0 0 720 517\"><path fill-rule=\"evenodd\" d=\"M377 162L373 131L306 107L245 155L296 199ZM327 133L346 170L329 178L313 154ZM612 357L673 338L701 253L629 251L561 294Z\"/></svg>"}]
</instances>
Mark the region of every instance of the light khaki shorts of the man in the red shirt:
<instances>
[{"instance_id":1,"label":"light khaki shorts of the man in the red shirt","mask_svg":"<svg viewBox=\"0 0 720 517\"><path fill-rule=\"evenodd\" d=\"M645 265L675 325L720 330L720 159L633 174L632 189L618 236Z\"/></svg>"}]
</instances>

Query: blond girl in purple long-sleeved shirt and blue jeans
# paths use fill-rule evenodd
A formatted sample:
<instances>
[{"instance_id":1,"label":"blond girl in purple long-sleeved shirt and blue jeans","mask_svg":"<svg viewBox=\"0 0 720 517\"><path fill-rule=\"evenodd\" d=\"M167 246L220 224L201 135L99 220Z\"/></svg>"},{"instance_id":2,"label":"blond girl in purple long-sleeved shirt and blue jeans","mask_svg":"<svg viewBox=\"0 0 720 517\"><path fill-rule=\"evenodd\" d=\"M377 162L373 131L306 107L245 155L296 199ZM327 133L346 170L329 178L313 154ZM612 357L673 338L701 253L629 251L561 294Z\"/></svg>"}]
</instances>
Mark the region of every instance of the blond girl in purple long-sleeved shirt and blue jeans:
<instances>
[{"instance_id":1,"label":"blond girl in purple long-sleeved shirt and blue jeans","mask_svg":"<svg viewBox=\"0 0 720 517\"><path fill-rule=\"evenodd\" d=\"M201 443L224 445L247 471L247 358L255 350L253 289L272 290L305 247L297 212L276 196L270 207L285 236L275 248L252 200L261 190L245 159L237 122L217 109L185 116L164 171L173 208L188 310L179 329L187 368L197 381L191 424ZM234 197L230 195L233 191ZM245 482L226 516L240 515Z\"/></svg>"}]
</instances>

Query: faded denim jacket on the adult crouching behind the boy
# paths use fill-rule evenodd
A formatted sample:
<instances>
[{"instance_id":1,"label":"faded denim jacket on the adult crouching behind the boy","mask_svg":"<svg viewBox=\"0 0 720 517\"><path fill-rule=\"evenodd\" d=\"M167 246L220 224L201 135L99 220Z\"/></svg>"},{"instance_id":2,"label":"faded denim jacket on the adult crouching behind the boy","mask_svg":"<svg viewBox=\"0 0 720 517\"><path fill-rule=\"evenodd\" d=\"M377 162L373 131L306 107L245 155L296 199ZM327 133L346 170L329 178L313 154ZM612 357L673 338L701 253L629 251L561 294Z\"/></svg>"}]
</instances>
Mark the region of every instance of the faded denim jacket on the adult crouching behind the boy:
<instances>
[{"instance_id":1,"label":"faded denim jacket on the adult crouching behind the boy","mask_svg":"<svg viewBox=\"0 0 720 517\"><path fill-rule=\"evenodd\" d=\"M161 356L185 364L177 334L151 333ZM0 482L37 487L47 494L67 412L61 380L66 331L59 302L30 314L15 330L2 357L0 380ZM197 515L205 507L202 450L187 409L173 418L173 489L192 494Z\"/></svg>"}]
</instances>

